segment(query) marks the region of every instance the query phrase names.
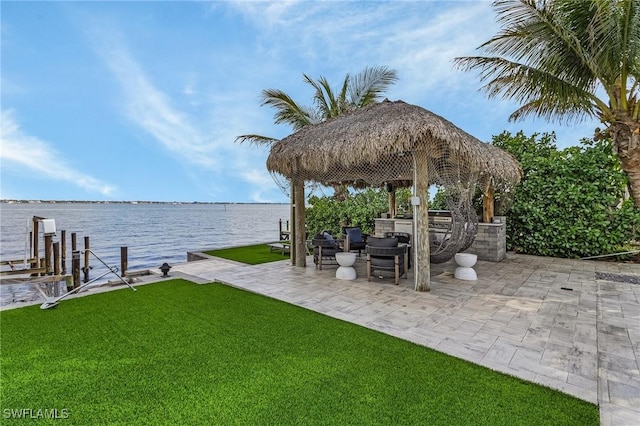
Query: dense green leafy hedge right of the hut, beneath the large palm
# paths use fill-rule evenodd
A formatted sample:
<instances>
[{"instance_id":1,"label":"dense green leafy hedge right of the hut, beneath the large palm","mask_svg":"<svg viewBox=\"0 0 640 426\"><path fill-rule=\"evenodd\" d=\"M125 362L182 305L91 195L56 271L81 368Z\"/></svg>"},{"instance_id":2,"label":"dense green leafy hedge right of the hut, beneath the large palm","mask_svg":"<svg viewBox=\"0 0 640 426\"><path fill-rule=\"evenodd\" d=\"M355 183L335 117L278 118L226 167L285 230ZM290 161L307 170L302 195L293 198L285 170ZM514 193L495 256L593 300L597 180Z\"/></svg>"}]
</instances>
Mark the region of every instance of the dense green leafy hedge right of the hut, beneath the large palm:
<instances>
[{"instance_id":1,"label":"dense green leafy hedge right of the hut, beneath the large palm","mask_svg":"<svg viewBox=\"0 0 640 426\"><path fill-rule=\"evenodd\" d=\"M507 214L509 249L586 257L623 251L638 237L640 211L622 202L627 178L609 141L583 139L558 150L554 134L505 132L493 144L511 152L524 171Z\"/></svg>"}]
</instances>

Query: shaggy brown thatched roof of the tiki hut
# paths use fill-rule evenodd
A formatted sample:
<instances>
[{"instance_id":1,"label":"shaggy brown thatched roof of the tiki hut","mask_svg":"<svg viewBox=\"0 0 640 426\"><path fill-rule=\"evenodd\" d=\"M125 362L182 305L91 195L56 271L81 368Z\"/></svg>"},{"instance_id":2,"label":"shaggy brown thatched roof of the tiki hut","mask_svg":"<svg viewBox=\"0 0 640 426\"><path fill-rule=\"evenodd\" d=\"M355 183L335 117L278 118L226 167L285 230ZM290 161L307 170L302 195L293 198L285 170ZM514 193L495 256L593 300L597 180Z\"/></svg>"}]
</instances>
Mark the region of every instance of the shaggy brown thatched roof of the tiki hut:
<instances>
[{"instance_id":1,"label":"shaggy brown thatched roof of the tiki hut","mask_svg":"<svg viewBox=\"0 0 640 426\"><path fill-rule=\"evenodd\" d=\"M520 165L509 153L419 106L385 100L310 125L276 142L267 169L286 177L355 186L411 182L413 155L428 161L433 182L464 169L483 179L517 183Z\"/></svg>"}]
</instances>

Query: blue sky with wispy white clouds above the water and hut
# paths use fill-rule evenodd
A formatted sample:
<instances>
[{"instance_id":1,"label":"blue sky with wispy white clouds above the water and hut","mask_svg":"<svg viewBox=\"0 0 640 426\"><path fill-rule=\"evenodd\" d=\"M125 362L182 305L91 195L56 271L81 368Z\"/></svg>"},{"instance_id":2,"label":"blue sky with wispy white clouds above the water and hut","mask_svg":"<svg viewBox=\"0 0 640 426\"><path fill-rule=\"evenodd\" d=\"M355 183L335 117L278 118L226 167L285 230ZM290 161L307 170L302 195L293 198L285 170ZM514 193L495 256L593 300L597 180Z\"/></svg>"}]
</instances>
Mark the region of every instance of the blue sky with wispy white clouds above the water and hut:
<instances>
[{"instance_id":1,"label":"blue sky with wispy white clouds above the water and hut","mask_svg":"<svg viewBox=\"0 0 640 426\"><path fill-rule=\"evenodd\" d=\"M0 2L0 199L288 202L266 169L284 138L263 89L312 104L303 74L335 87L386 66L386 92L488 142L503 131L589 138L596 122L527 119L488 99L453 59L499 31L475 1Z\"/></svg>"}]
</instances>

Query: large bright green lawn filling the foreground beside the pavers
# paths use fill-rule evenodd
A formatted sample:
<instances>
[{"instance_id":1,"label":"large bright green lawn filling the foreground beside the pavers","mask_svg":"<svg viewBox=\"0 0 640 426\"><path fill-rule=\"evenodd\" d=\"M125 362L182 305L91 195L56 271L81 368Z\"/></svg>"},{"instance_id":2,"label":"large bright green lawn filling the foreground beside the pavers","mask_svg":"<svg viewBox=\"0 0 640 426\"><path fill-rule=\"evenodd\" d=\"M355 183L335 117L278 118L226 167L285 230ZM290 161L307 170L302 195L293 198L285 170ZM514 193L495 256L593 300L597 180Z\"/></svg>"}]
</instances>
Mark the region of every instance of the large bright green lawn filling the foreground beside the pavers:
<instances>
[{"instance_id":1,"label":"large bright green lawn filling the foreground beside the pavers","mask_svg":"<svg viewBox=\"0 0 640 426\"><path fill-rule=\"evenodd\" d=\"M566 394L221 284L163 281L0 320L3 413L67 410L65 424L599 422Z\"/></svg>"}]
</instances>

